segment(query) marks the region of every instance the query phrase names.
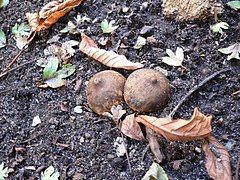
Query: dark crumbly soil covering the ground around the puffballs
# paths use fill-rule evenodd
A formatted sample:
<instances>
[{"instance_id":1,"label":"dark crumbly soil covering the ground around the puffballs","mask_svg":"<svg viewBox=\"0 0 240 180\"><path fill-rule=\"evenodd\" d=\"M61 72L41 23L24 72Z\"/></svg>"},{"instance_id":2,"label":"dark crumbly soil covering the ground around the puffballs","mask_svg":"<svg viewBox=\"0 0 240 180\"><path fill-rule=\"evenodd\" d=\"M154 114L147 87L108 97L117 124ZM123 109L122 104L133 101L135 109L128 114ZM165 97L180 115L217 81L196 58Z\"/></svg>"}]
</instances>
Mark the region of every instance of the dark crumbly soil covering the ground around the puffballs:
<instances>
[{"instance_id":1,"label":"dark crumbly soil covering the ground around the puffballs","mask_svg":"<svg viewBox=\"0 0 240 180\"><path fill-rule=\"evenodd\" d=\"M12 0L6 8L0 9L0 29L4 30L8 39L6 47L0 49L1 70L18 52L11 28L20 20L26 22L26 12L38 12L47 2L49 0ZM48 46L47 40L59 34L77 14L91 18L92 22L84 22L79 28L95 41L106 36L101 31L100 22L104 18L115 20L120 27L113 34L113 46L109 49L116 48L117 42L127 37L129 48L121 53L129 60L142 62L148 68L167 70L173 96L168 106L153 114L155 116L164 117L169 114L194 85L209 75L231 68L231 71L220 74L188 98L175 117L190 118L194 107L198 107L204 114L214 115L213 134L228 148L232 175L235 176L240 156L240 98L239 95L231 94L240 87L240 61L226 61L227 56L217 49L239 41L239 12L225 6L225 12L219 18L229 23L230 28L225 31L227 37L222 40L219 34L210 32L209 25L214 23L213 19L194 24L177 23L163 17L161 1L149 1L146 8L141 8L143 2L86 1L48 31L39 33L14 68L43 57L43 50ZM122 12L124 6L130 8L129 12ZM135 50L132 46L144 25L154 28L143 36L153 35L157 42ZM60 33L60 37L59 44L70 39L80 41L79 35ZM177 67L161 61L161 57L166 56L167 48L175 51L176 47L184 48L183 65L187 68L185 74ZM72 64L77 66L77 71L68 78L67 86L58 89L37 88L36 83L42 81L43 68L38 67L36 62L19 67L0 79L0 163L4 162L10 168L9 179L18 179L22 175L24 179L39 179L40 172L50 165L60 172L61 179L72 179L74 175L78 175L77 179L133 179L134 175L136 179L141 179L154 161L149 150L142 159L148 143L127 138L133 169L131 173L126 157L117 157L113 146L116 138L121 136L115 124L93 113L86 103L86 83L95 73L109 68L91 60L79 50L72 58ZM125 77L130 73L115 70ZM82 79L82 86L80 91L75 92L75 81L79 78ZM62 102L69 104L68 112L61 110ZM77 105L82 107L81 114L73 111ZM37 115L42 123L32 127L33 118ZM219 124L221 118L223 122ZM162 138L159 140L166 156L160 165L169 177L209 179L204 155L199 151L200 141L170 143ZM180 159L184 159L180 169L174 170L172 162ZM28 170L26 167L29 166L34 166L36 170Z\"/></svg>"}]
</instances>

